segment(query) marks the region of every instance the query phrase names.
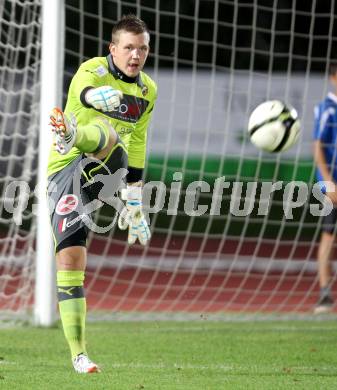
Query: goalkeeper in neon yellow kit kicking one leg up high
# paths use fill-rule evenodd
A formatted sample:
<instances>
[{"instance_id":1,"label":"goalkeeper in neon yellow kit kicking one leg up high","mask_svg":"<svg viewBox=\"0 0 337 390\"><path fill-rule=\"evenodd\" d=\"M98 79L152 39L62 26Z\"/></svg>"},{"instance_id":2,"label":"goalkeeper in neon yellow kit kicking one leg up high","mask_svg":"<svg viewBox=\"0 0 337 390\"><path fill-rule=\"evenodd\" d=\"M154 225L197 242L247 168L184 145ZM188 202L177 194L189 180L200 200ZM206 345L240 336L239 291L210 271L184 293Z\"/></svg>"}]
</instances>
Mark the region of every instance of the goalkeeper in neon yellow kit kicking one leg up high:
<instances>
[{"instance_id":1,"label":"goalkeeper in neon yellow kit kicking one leg up high","mask_svg":"<svg viewBox=\"0 0 337 390\"><path fill-rule=\"evenodd\" d=\"M124 16L112 29L107 57L84 62L74 75L64 113L54 108L54 148L48 164L48 197L55 241L59 311L76 372L98 372L85 345L88 215L83 204L98 199L96 175L109 177L127 168L126 208L120 228L128 241L145 245L150 230L142 213L142 174L146 134L157 95L156 84L142 72L149 53L146 24ZM90 163L83 163L89 159ZM79 191L73 178L80 171ZM97 177L97 176L96 176ZM107 177L107 176L105 176ZM113 195L113 194L112 194Z\"/></svg>"}]
</instances>

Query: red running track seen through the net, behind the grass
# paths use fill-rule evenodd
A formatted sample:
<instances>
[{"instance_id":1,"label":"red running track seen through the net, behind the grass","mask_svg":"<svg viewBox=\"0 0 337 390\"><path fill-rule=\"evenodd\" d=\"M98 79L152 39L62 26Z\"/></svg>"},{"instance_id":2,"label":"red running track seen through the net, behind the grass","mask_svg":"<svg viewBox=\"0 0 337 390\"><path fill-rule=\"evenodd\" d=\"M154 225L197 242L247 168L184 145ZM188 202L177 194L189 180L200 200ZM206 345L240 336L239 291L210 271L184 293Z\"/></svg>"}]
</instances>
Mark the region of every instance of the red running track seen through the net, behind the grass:
<instances>
[{"instance_id":1,"label":"red running track seen through the net, behind the grass","mask_svg":"<svg viewBox=\"0 0 337 390\"><path fill-rule=\"evenodd\" d=\"M275 251L275 246L270 243L263 245L249 242L242 248L235 240L209 240L208 244L200 249L200 240L174 238L166 248L165 253L173 257L180 253L182 246L185 253L191 254L191 258L198 253L209 255L211 253L225 253L236 256L260 256L268 258L271 251L274 257L287 259L290 254L294 259L312 258L312 243L301 243L296 250L289 244L280 243ZM173 242L174 241L174 242ZM194 241L194 242L193 242ZM310 245L309 245L310 244ZM257 245L259 245L257 247ZM106 256L145 255L158 256L162 251L160 240L154 240L151 246L143 249L136 247L128 249L125 241L94 240L90 246L93 254ZM188 250L187 250L188 249ZM143 251L146 251L145 254ZM249 262L247 262L247 268ZM1 275L8 269L0 268ZM1 289L0 309L19 306L22 299L13 294L20 285L24 284L20 270L11 271L11 280L7 280ZM176 272L158 271L140 268L101 268L88 269L86 276L86 290L89 309L111 311L187 311L198 313L214 312L311 312L318 296L318 283L315 273L294 272L256 272L232 270L207 271L198 270L189 273L178 269ZM30 294L25 297L25 302L32 304L33 284L30 284ZM334 283L333 289L337 287Z\"/></svg>"}]
</instances>

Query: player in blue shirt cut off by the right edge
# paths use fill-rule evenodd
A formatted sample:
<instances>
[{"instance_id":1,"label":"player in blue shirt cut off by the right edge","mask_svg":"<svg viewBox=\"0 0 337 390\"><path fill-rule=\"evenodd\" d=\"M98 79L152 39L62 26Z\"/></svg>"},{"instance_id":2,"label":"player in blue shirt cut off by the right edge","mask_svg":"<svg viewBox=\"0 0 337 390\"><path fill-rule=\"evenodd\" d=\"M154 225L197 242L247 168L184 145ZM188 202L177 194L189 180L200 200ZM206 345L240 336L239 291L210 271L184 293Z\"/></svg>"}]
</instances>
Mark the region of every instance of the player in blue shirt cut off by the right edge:
<instances>
[{"instance_id":1,"label":"player in blue shirt cut off by the right edge","mask_svg":"<svg viewBox=\"0 0 337 390\"><path fill-rule=\"evenodd\" d=\"M334 93L315 107L314 159L317 165L317 179L337 183L337 63L329 66L329 80ZM326 191L326 188L323 188ZM337 188L326 192L335 208L323 217L322 234L318 247L318 275L320 297L315 307L316 313L329 312L333 305L331 296L331 257L333 255L335 228L337 222Z\"/></svg>"}]
</instances>

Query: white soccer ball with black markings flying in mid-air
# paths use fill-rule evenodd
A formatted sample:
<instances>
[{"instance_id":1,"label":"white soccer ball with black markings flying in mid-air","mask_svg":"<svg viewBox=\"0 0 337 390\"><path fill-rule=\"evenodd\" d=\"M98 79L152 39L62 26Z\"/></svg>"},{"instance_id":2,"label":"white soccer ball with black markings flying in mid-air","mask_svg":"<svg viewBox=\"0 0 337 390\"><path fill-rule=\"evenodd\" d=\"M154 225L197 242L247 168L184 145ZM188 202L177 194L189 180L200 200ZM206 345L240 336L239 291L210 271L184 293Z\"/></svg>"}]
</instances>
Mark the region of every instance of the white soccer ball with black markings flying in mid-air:
<instances>
[{"instance_id":1,"label":"white soccer ball with black markings flying in mid-air","mask_svg":"<svg viewBox=\"0 0 337 390\"><path fill-rule=\"evenodd\" d=\"M300 134L297 111L280 100L268 100L255 108L248 122L252 143L267 152L283 152L293 146Z\"/></svg>"}]
</instances>

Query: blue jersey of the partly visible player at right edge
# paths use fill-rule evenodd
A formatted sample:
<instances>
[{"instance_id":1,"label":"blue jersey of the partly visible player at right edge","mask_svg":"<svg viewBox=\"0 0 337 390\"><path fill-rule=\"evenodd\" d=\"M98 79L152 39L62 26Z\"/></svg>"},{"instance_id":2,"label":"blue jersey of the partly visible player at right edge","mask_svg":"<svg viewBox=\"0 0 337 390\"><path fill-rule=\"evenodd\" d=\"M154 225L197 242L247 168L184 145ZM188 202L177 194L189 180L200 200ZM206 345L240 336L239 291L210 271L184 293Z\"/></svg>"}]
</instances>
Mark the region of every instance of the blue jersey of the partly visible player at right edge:
<instances>
[{"instance_id":1,"label":"blue jersey of the partly visible player at right edge","mask_svg":"<svg viewBox=\"0 0 337 390\"><path fill-rule=\"evenodd\" d=\"M314 139L321 141L327 166L337 181L337 96L331 92L315 107ZM323 180L319 169L316 177Z\"/></svg>"}]
</instances>

